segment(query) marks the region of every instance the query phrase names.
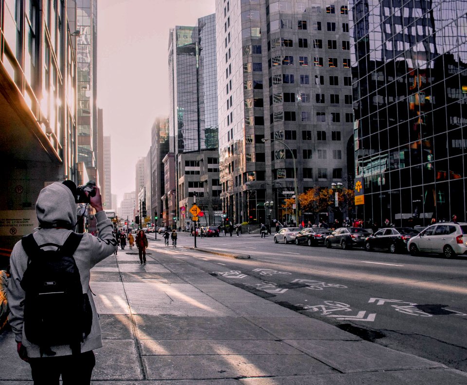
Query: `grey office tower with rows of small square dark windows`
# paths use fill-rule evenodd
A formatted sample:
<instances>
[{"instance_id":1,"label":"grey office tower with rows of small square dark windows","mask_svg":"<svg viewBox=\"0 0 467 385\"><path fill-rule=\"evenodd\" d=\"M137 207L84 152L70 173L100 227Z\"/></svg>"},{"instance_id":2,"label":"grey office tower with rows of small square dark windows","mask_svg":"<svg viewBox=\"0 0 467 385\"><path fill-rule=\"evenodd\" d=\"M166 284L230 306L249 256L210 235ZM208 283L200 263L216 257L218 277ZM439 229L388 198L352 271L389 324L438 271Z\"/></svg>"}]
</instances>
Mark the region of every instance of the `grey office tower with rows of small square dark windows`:
<instances>
[{"instance_id":1,"label":"grey office tower with rows of small square dark windows","mask_svg":"<svg viewBox=\"0 0 467 385\"><path fill-rule=\"evenodd\" d=\"M294 179L298 193L348 183L346 4L216 0L220 183L231 222L291 222L282 205Z\"/></svg>"}]
</instances>

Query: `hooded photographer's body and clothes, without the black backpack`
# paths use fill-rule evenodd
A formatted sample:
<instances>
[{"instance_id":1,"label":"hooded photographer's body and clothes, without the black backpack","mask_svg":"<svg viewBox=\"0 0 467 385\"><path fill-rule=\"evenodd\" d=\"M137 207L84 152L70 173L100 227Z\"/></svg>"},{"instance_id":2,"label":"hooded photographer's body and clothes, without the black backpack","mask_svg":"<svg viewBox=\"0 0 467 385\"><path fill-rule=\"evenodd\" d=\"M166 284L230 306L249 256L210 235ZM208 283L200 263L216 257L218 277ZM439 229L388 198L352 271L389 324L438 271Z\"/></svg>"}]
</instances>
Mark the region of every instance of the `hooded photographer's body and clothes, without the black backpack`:
<instances>
[{"instance_id":1,"label":"hooded photographer's body and clothes, without the black backpack","mask_svg":"<svg viewBox=\"0 0 467 385\"><path fill-rule=\"evenodd\" d=\"M55 182L41 190L36 202L36 214L39 227L34 232L34 239L43 250L56 250L64 244L76 225L76 190L73 182L65 184ZM117 247L110 219L102 209L102 198L97 186L96 194L91 197L90 205L96 210L98 237L90 233L83 238L73 254L78 267L83 293L87 293L92 309L90 334L81 342L81 353L72 355L68 345L52 346L53 356L42 356L40 347L27 340L23 328L23 301L25 292L20 286L27 268L28 255L21 241L14 247L10 257L11 277L8 283L9 322L15 333L19 357L31 366L34 384L59 384L60 375L63 384L90 384L95 358L92 350L102 347L101 329L92 293L89 286L90 269L98 262L112 255ZM86 193L88 194L88 193Z\"/></svg>"}]
</instances>

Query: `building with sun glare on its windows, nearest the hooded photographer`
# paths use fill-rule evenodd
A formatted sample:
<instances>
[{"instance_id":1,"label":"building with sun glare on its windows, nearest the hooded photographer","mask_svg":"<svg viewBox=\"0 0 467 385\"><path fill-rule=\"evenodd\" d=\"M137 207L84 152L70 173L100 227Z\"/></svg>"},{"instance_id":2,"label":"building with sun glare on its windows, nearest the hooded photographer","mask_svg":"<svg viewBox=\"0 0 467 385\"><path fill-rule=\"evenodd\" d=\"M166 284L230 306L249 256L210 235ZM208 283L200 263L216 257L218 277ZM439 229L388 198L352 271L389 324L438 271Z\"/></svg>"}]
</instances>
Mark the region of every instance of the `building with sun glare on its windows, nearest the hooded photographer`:
<instances>
[{"instance_id":1,"label":"building with sun glare on its windows, nearest the hooded photographer","mask_svg":"<svg viewBox=\"0 0 467 385\"><path fill-rule=\"evenodd\" d=\"M0 256L37 226L54 181L78 180L76 57L62 1L0 0Z\"/></svg>"}]
</instances>

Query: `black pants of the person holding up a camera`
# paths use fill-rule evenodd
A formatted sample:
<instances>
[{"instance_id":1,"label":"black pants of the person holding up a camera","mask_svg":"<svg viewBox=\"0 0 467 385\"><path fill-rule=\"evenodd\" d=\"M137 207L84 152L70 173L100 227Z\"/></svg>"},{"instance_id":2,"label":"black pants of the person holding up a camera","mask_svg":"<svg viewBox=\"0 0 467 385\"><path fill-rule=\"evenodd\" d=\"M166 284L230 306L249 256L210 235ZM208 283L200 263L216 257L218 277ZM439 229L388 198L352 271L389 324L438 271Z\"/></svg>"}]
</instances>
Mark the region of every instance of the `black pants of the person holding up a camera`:
<instances>
[{"instance_id":1,"label":"black pants of the person holding up a camera","mask_svg":"<svg viewBox=\"0 0 467 385\"><path fill-rule=\"evenodd\" d=\"M30 358L34 385L58 385L60 375L63 385L89 385L96 359L92 350L81 354Z\"/></svg>"}]
</instances>

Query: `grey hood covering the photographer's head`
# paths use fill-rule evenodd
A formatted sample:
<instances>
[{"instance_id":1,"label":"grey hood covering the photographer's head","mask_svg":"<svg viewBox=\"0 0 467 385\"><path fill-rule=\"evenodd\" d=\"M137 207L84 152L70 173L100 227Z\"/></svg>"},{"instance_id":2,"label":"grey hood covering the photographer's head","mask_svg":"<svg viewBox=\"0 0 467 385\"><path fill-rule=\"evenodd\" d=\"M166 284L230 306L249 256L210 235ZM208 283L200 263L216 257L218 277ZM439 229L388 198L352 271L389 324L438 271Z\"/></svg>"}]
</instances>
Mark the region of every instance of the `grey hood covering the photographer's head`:
<instances>
[{"instance_id":1,"label":"grey hood covering the photographer's head","mask_svg":"<svg viewBox=\"0 0 467 385\"><path fill-rule=\"evenodd\" d=\"M76 222L76 203L72 191L60 182L44 187L37 198L36 214L40 224Z\"/></svg>"}]
</instances>

